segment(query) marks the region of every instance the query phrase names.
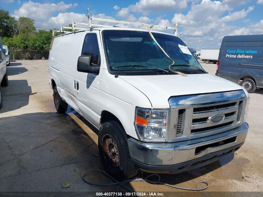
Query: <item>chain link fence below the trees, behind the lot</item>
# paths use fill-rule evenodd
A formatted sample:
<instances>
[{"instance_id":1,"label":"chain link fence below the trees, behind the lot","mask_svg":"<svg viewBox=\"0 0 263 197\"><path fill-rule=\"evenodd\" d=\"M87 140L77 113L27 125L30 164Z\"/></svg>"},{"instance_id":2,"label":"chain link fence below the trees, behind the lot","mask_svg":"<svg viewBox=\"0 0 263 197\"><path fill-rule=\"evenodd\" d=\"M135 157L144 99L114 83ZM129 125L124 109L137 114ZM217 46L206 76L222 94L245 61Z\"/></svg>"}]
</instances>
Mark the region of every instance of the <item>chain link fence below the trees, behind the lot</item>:
<instances>
[{"instance_id":1,"label":"chain link fence below the trees, behind the lot","mask_svg":"<svg viewBox=\"0 0 263 197\"><path fill-rule=\"evenodd\" d=\"M27 49L10 50L10 60L22 59L48 59L49 51L35 51Z\"/></svg>"}]
</instances>

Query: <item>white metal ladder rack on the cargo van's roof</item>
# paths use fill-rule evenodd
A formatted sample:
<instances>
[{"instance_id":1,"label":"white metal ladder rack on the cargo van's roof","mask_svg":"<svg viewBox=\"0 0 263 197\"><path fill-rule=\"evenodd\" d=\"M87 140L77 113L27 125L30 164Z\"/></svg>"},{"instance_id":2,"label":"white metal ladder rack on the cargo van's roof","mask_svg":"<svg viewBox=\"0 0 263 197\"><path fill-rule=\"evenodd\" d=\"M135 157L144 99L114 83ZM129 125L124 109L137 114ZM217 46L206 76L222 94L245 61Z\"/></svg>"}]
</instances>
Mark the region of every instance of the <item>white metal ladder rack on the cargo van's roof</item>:
<instances>
[{"instance_id":1,"label":"white metal ladder rack on the cargo van's roof","mask_svg":"<svg viewBox=\"0 0 263 197\"><path fill-rule=\"evenodd\" d=\"M145 27L157 27L157 28L163 28L163 29L171 29L171 30L174 30L173 31L174 36L177 36L177 29L178 29L178 21L176 22L175 27L168 27L168 26L160 26L160 25L153 25L153 24L146 24L146 23L118 21L118 20L112 20L112 19L90 17L89 16L89 8L88 8L88 23L74 22L73 21L73 15L72 15L72 27L62 26L62 21L61 21L60 32L61 33L70 33L72 31L84 30L87 28L93 29L94 27L113 27L113 26L109 26L109 25L93 24L92 21L111 22L111 23L126 24L126 25L138 25L138 26L145 26ZM81 28L81 27L75 27L75 25L82 25L82 26L88 26L88 27L87 28ZM70 29L72 31L63 31L63 29Z\"/></svg>"}]
</instances>

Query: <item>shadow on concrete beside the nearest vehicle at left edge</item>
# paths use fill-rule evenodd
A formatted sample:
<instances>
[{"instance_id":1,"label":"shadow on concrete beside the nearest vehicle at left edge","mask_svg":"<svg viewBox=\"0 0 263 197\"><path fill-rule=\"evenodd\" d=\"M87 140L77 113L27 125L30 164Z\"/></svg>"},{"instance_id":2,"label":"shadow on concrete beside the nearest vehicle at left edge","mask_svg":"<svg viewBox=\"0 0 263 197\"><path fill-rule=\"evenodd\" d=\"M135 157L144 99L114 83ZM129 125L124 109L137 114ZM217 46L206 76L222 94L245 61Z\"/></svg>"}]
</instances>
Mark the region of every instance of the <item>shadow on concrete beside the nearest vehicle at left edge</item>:
<instances>
[{"instance_id":1,"label":"shadow on concrete beside the nearest vehicle at left edge","mask_svg":"<svg viewBox=\"0 0 263 197\"><path fill-rule=\"evenodd\" d=\"M28 82L25 79L8 80L8 86L1 88L3 94L3 107L0 113L27 106L29 96L36 94L36 92L32 93L31 86L28 86Z\"/></svg>"}]
</instances>

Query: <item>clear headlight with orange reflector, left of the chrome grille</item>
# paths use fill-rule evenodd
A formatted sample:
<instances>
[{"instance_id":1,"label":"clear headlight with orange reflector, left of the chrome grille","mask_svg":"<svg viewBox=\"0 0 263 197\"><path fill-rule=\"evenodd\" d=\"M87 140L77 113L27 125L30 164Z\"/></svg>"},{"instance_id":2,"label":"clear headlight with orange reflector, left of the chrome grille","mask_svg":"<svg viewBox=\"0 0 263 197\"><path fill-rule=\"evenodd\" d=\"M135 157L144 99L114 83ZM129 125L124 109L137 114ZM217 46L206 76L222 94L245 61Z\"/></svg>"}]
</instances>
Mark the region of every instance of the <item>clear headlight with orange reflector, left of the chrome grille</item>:
<instances>
[{"instance_id":1,"label":"clear headlight with orange reflector, left of the chrome grille","mask_svg":"<svg viewBox=\"0 0 263 197\"><path fill-rule=\"evenodd\" d=\"M136 109L135 127L143 141L165 141L167 120L168 110Z\"/></svg>"}]
</instances>

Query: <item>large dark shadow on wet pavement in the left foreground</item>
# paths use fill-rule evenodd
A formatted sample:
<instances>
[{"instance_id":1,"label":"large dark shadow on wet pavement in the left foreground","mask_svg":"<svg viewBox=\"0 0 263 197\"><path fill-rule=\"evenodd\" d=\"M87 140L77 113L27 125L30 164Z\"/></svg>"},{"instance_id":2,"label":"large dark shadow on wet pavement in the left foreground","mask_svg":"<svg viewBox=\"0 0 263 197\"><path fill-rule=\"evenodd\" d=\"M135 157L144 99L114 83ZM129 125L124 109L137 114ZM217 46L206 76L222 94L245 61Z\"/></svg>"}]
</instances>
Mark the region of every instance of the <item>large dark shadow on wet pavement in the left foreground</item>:
<instances>
[{"instance_id":1,"label":"large dark shadow on wet pavement in the left foreground","mask_svg":"<svg viewBox=\"0 0 263 197\"><path fill-rule=\"evenodd\" d=\"M0 191L116 192L115 185L94 186L82 181L84 172L104 168L96 134L82 129L77 119L70 110L68 114L39 112L0 118ZM100 172L85 178L95 183L112 182ZM70 183L68 189L61 187L64 182Z\"/></svg>"}]
</instances>

